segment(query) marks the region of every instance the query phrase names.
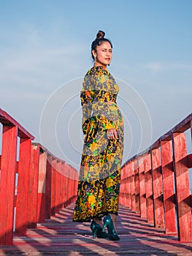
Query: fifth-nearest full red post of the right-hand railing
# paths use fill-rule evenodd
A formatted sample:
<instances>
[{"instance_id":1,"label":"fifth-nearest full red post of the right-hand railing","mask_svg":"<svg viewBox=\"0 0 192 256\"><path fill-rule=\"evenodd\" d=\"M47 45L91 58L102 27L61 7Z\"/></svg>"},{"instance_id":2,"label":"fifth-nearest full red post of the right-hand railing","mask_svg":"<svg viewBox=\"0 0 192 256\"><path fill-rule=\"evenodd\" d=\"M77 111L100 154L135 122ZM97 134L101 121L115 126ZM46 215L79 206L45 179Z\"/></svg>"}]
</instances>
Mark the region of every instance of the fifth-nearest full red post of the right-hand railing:
<instances>
[{"instance_id":1,"label":"fifth-nearest full red post of the right-hand railing","mask_svg":"<svg viewBox=\"0 0 192 256\"><path fill-rule=\"evenodd\" d=\"M139 203L140 203L140 217L147 218L146 207L146 192L145 192L145 171L144 171L144 157L138 157L139 167Z\"/></svg>"}]
</instances>

